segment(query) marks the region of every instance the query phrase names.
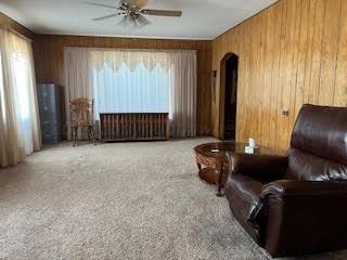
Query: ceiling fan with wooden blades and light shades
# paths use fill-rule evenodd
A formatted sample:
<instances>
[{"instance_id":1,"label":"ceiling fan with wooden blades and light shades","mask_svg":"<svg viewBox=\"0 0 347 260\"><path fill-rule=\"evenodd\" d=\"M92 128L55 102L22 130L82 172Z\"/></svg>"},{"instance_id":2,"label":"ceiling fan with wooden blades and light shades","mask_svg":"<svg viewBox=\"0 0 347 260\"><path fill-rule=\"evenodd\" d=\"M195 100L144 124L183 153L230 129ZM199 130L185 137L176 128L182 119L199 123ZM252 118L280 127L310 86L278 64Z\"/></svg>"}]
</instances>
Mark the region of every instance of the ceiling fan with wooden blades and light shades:
<instances>
[{"instance_id":1,"label":"ceiling fan with wooden blades and light shades","mask_svg":"<svg viewBox=\"0 0 347 260\"><path fill-rule=\"evenodd\" d=\"M114 9L114 12L110 15L97 17L92 21L102 21L112 17L123 16L118 25L126 28L141 28L151 24L151 22L145 17L145 15L156 15L156 16L170 16L170 17L181 17L182 11L176 10L155 10L155 9L144 9L150 0L120 0L120 2L113 6L108 4L94 3L94 2L83 2L90 5L102 6Z\"/></svg>"}]
</instances>

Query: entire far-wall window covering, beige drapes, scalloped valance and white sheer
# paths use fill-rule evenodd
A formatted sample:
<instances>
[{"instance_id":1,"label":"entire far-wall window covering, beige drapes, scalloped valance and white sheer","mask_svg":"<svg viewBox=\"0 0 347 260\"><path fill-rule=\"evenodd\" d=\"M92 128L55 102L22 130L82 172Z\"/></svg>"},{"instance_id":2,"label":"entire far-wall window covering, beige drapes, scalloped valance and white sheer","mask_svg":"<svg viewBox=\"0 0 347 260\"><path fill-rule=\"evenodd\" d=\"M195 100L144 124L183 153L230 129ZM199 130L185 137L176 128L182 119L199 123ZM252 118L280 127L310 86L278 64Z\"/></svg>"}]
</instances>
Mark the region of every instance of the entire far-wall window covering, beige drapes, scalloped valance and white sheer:
<instances>
[{"instance_id":1,"label":"entire far-wall window covering, beige drapes, scalloped valance and white sheer","mask_svg":"<svg viewBox=\"0 0 347 260\"><path fill-rule=\"evenodd\" d=\"M174 138L196 135L196 51L66 48L65 67L66 104L94 99L95 119L169 112Z\"/></svg>"}]
</instances>

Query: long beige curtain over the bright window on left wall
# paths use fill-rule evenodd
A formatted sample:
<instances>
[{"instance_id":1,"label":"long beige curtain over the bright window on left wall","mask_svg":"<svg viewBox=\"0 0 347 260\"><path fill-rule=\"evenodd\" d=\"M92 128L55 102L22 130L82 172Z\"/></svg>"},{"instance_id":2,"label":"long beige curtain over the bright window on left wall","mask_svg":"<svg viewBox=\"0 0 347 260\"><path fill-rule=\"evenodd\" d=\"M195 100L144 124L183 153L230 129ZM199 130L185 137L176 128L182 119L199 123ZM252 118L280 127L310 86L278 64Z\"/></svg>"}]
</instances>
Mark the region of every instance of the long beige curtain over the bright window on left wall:
<instances>
[{"instance_id":1,"label":"long beige curtain over the bright window on left wall","mask_svg":"<svg viewBox=\"0 0 347 260\"><path fill-rule=\"evenodd\" d=\"M41 147L31 42L0 28L0 166Z\"/></svg>"}]
</instances>

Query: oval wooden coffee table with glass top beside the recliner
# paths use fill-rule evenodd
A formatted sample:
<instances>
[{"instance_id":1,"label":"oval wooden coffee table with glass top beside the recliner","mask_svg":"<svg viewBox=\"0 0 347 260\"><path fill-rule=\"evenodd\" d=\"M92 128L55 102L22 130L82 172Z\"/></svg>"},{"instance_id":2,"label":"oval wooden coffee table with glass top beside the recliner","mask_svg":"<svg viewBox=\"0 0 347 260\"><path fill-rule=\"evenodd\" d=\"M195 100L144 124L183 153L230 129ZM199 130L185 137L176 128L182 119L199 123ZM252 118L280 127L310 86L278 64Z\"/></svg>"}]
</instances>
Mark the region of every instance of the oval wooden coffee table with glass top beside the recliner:
<instances>
[{"instance_id":1,"label":"oval wooden coffee table with glass top beside the recliner","mask_svg":"<svg viewBox=\"0 0 347 260\"><path fill-rule=\"evenodd\" d=\"M229 176L229 160L226 156L228 152L232 158L245 155L245 143L236 142L218 142L206 143L194 147L198 176L202 180L217 185L217 196L221 197L222 188ZM259 154L275 155L273 151L267 147L258 147L254 155Z\"/></svg>"}]
</instances>

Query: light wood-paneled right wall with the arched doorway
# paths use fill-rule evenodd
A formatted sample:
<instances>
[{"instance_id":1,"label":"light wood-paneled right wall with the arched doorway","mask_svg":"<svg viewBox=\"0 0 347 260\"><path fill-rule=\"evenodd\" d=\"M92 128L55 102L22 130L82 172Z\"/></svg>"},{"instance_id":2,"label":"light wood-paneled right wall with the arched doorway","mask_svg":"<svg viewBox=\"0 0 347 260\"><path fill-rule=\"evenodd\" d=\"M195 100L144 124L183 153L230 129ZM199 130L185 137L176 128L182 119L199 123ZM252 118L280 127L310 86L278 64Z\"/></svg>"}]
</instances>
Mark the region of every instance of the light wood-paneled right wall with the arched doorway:
<instances>
[{"instance_id":1,"label":"light wood-paneled right wall with the arched doorway","mask_svg":"<svg viewBox=\"0 0 347 260\"><path fill-rule=\"evenodd\" d=\"M347 105L346 0L280 0L213 42L213 69L218 70L211 105L215 136L220 61L229 52L240 58L237 141L252 136L283 151L304 103Z\"/></svg>"}]
</instances>

